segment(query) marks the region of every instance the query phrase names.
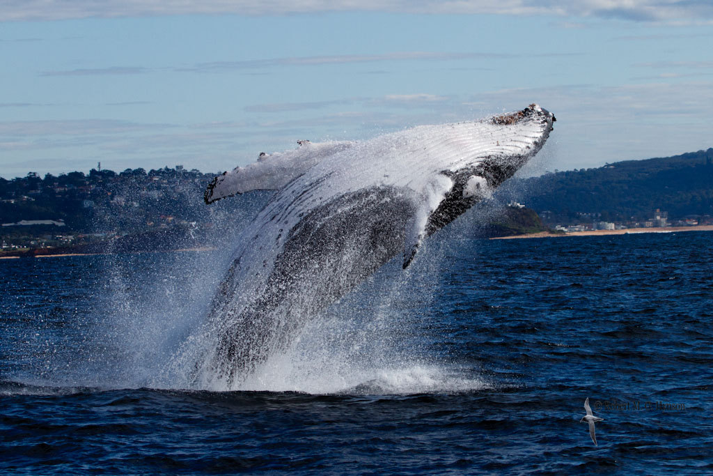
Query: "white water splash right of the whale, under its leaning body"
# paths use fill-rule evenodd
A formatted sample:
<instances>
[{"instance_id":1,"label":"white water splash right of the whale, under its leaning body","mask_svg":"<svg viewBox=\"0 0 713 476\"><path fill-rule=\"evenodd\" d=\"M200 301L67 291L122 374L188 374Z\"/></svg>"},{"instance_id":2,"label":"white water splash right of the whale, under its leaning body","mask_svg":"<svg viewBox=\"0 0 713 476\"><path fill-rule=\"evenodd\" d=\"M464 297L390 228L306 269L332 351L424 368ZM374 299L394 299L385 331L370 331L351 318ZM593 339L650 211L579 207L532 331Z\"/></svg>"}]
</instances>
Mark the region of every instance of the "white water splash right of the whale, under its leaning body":
<instances>
[{"instance_id":1,"label":"white water splash right of the whale, under its leaning body","mask_svg":"<svg viewBox=\"0 0 713 476\"><path fill-rule=\"evenodd\" d=\"M272 353L245 380L209 376L193 388L310 394L458 393L490 388L471 368L438 352L442 336L429 333L431 300L438 300L443 253L424 250L410 273L394 261L353 293L314 318L289 348ZM179 354L180 356L185 356ZM191 358L173 362L185 375Z\"/></svg>"}]
</instances>

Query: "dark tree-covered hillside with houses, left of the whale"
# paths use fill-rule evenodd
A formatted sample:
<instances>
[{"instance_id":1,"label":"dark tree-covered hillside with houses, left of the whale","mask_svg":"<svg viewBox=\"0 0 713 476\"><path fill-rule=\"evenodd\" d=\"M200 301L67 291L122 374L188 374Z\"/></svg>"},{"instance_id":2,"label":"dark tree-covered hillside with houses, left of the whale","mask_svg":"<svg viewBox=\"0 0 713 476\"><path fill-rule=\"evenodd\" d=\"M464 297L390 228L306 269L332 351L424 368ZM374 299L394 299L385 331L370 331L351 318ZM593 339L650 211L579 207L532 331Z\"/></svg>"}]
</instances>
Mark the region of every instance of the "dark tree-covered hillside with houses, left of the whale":
<instances>
[{"instance_id":1,"label":"dark tree-covered hillside with houses, left of the whale","mask_svg":"<svg viewBox=\"0 0 713 476\"><path fill-rule=\"evenodd\" d=\"M117 249L194 245L196 238L205 236L202 231L230 228L232 222L226 218L230 213L253 211L265 196L207 207L202 196L213 177L178 166L148 172L137 168L0 178L0 245L6 250L95 246L107 240ZM125 236L140 236L148 244L120 239ZM215 245L204 243L211 244Z\"/></svg>"}]
</instances>

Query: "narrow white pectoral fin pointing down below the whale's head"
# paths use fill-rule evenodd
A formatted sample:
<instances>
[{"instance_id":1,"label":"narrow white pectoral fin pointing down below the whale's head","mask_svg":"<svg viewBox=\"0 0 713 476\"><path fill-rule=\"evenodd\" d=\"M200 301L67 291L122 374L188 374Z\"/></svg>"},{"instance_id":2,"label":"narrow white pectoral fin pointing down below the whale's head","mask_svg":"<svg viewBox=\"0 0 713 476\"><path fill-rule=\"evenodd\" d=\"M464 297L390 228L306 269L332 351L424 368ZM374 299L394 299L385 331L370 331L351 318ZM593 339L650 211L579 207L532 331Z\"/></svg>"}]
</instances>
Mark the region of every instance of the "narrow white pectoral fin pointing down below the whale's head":
<instances>
[{"instance_id":1,"label":"narrow white pectoral fin pointing down below the whale's head","mask_svg":"<svg viewBox=\"0 0 713 476\"><path fill-rule=\"evenodd\" d=\"M426 184L421 193L421 203L416 208L416 213L406 224L406 238L404 240L404 269L408 268L414 260L416 253L426 238L426 225L429 223L431 213L436 211L438 205L446 197L446 193L453 188L450 178L438 173Z\"/></svg>"}]
</instances>

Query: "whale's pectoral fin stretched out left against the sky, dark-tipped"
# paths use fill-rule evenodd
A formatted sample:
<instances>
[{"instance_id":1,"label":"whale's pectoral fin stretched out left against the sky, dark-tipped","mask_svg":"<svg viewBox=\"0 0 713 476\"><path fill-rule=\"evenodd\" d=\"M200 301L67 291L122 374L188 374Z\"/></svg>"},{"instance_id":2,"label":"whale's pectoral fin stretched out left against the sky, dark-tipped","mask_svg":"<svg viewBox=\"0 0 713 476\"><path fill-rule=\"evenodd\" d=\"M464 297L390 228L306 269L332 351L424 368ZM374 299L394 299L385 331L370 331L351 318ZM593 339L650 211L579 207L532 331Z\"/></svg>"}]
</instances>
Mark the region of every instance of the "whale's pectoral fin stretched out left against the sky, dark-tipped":
<instances>
[{"instance_id":1,"label":"whale's pectoral fin stretched out left against the sky, dark-tipped","mask_svg":"<svg viewBox=\"0 0 713 476\"><path fill-rule=\"evenodd\" d=\"M320 161L352 146L351 142L298 143L292 151L260 153L257 162L213 178L205 189L205 203L250 191L279 190Z\"/></svg>"}]
</instances>

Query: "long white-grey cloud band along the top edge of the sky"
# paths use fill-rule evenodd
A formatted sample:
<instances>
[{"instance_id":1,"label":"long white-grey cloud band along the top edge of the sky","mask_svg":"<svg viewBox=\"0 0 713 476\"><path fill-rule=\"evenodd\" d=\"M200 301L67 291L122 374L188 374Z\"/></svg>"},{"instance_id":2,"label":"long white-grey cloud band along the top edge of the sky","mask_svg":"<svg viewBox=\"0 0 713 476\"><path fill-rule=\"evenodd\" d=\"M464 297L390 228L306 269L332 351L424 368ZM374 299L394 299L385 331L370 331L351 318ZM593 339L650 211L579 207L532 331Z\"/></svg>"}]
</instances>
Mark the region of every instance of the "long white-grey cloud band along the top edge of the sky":
<instances>
[{"instance_id":1,"label":"long white-grey cloud band along the top edge of the sky","mask_svg":"<svg viewBox=\"0 0 713 476\"><path fill-rule=\"evenodd\" d=\"M709 0L6 0L0 4L0 21L324 11L593 16L683 23L713 20Z\"/></svg>"}]
</instances>

